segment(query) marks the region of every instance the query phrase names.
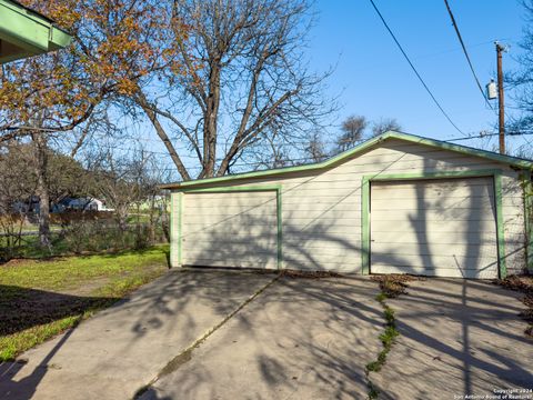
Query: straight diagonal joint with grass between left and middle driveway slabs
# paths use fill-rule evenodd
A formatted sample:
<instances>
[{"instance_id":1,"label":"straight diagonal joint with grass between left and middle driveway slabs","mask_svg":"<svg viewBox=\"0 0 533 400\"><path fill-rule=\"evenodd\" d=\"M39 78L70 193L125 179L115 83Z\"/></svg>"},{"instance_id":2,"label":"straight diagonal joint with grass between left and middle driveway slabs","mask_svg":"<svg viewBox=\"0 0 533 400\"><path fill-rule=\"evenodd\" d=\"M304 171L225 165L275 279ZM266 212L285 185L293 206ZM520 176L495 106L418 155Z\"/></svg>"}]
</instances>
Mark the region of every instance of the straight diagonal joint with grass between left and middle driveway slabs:
<instances>
[{"instance_id":1,"label":"straight diagonal joint with grass between left and middle driveway slabs","mask_svg":"<svg viewBox=\"0 0 533 400\"><path fill-rule=\"evenodd\" d=\"M199 348L211 334L222 328L230 319L232 319L239 311L241 311L244 307L251 303L259 294L261 294L264 290L266 290L270 286L272 286L278 279L280 279L281 273L278 273L275 278L273 278L270 282L268 282L262 288L258 289L252 296L250 296L247 300L240 303L233 311L231 311L228 316L225 316L219 323L211 327L208 331L205 331L202 336L200 336L197 340L194 340L189 347L183 349L178 356L175 356L172 360L170 360L167 366L164 366L154 378L150 380L147 384L141 387L135 391L133 394L133 399L139 399L158 380L177 371L181 366L192 359L192 352L194 349Z\"/></svg>"}]
</instances>

